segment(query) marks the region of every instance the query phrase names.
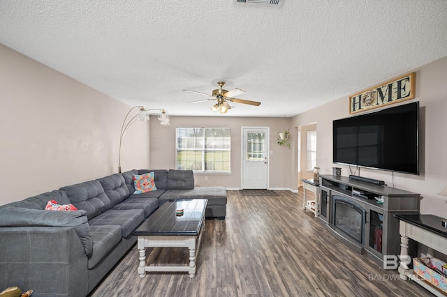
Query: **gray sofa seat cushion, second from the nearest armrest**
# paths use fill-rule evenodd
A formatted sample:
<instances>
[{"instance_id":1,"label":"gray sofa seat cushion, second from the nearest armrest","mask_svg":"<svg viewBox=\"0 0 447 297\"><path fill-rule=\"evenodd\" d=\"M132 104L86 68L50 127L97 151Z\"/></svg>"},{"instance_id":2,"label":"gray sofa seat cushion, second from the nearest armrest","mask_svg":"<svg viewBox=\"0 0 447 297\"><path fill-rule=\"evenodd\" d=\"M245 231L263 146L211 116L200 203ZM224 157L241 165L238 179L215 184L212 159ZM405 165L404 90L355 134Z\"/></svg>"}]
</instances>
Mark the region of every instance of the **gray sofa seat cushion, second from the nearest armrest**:
<instances>
[{"instance_id":1,"label":"gray sofa seat cushion, second from the nearest armrest","mask_svg":"<svg viewBox=\"0 0 447 297\"><path fill-rule=\"evenodd\" d=\"M128 237L133 230L145 220L145 211L142 209L109 209L101 215L89 220L90 226L118 225L121 227L122 236Z\"/></svg>"}]
</instances>

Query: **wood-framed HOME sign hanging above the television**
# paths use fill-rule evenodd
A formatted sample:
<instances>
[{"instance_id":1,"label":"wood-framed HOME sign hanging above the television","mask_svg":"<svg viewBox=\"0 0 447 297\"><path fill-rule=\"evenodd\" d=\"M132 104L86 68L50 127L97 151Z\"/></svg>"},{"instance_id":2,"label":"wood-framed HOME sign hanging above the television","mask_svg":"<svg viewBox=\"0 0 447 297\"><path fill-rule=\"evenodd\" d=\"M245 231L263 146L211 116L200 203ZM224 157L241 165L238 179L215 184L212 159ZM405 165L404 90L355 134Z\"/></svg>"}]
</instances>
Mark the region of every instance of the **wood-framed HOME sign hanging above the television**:
<instances>
[{"instance_id":1,"label":"wood-framed HOME sign hanging above the television","mask_svg":"<svg viewBox=\"0 0 447 297\"><path fill-rule=\"evenodd\" d=\"M415 73L409 73L349 97L349 114L415 97Z\"/></svg>"}]
</instances>

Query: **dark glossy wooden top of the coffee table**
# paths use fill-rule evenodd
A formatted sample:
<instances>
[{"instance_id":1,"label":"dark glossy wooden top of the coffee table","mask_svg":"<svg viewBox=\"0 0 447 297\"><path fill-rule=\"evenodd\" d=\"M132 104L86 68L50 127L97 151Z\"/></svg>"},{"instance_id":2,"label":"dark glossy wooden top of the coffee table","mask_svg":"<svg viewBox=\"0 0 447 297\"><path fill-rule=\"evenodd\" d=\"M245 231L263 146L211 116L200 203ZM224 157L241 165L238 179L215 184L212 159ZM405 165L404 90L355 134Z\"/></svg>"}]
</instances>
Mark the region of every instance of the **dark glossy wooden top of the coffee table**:
<instances>
[{"instance_id":1,"label":"dark glossy wooden top of the coffee table","mask_svg":"<svg viewBox=\"0 0 447 297\"><path fill-rule=\"evenodd\" d=\"M138 229L133 231L133 235L198 235L205 218L207 201L207 199L168 201L152 213ZM177 208L184 209L182 216L175 214Z\"/></svg>"}]
</instances>

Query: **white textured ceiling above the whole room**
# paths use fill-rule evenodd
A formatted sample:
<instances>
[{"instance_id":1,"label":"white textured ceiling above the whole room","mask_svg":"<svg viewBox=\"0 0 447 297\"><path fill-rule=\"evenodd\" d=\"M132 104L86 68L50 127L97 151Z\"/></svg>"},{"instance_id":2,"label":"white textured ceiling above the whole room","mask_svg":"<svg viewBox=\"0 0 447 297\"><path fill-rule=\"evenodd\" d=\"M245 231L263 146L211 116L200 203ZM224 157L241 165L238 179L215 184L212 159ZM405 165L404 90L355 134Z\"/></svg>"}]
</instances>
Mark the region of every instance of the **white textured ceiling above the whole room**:
<instances>
[{"instance_id":1,"label":"white textured ceiling above the whole room","mask_svg":"<svg viewBox=\"0 0 447 297\"><path fill-rule=\"evenodd\" d=\"M447 56L447 1L0 0L0 43L129 105L212 116L182 90L223 80L262 102L225 116L294 116Z\"/></svg>"}]
</instances>

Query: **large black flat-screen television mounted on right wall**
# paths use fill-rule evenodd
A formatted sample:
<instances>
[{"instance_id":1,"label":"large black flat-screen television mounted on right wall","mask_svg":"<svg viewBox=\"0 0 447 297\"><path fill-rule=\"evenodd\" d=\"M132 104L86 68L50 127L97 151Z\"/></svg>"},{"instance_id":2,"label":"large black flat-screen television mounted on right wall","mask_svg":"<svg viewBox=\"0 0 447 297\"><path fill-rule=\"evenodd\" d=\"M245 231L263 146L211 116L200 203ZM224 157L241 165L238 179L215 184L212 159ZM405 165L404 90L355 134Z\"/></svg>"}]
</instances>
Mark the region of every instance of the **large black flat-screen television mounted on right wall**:
<instances>
[{"instance_id":1,"label":"large black flat-screen television mounted on right wall","mask_svg":"<svg viewBox=\"0 0 447 297\"><path fill-rule=\"evenodd\" d=\"M333 121L333 162L419 174L419 102Z\"/></svg>"}]
</instances>

